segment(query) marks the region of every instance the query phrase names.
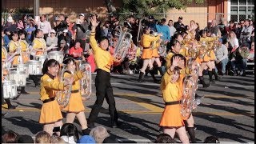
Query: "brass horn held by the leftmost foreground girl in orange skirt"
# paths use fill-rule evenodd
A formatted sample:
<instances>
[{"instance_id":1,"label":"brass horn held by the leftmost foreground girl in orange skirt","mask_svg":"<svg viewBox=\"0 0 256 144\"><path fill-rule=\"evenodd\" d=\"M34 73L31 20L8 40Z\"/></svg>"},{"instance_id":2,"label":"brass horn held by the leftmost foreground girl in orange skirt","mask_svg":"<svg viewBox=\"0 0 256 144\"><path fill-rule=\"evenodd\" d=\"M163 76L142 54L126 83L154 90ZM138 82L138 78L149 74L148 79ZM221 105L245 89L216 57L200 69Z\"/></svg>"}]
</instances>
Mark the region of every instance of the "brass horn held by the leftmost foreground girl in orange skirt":
<instances>
[{"instance_id":1,"label":"brass horn held by the leftmost foreground girl in orange skirt","mask_svg":"<svg viewBox=\"0 0 256 144\"><path fill-rule=\"evenodd\" d=\"M66 71L69 71L69 70L66 69L66 65L63 65L62 71L59 72L58 74L58 79L60 80L60 82L68 81L68 79L64 78L64 73ZM67 85L65 87L65 90L56 91L55 99L58 102L58 105L61 107L61 109L65 108L69 104L71 90L72 90L72 85Z\"/></svg>"}]
</instances>

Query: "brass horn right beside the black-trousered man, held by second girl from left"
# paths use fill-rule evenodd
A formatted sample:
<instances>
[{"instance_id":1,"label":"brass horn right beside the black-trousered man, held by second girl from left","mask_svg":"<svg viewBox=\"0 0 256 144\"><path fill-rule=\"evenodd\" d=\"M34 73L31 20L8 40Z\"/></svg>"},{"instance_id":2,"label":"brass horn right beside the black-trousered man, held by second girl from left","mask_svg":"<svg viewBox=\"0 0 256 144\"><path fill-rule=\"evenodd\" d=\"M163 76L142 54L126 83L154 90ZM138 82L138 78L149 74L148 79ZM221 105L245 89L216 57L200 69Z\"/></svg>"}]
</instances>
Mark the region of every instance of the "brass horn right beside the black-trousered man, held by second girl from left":
<instances>
[{"instance_id":1,"label":"brass horn right beside the black-trousered man, held by second girl from left","mask_svg":"<svg viewBox=\"0 0 256 144\"><path fill-rule=\"evenodd\" d=\"M78 69L84 70L83 78L80 80L80 93L86 100L91 96L91 68L90 64L85 61L78 61Z\"/></svg>"}]
</instances>

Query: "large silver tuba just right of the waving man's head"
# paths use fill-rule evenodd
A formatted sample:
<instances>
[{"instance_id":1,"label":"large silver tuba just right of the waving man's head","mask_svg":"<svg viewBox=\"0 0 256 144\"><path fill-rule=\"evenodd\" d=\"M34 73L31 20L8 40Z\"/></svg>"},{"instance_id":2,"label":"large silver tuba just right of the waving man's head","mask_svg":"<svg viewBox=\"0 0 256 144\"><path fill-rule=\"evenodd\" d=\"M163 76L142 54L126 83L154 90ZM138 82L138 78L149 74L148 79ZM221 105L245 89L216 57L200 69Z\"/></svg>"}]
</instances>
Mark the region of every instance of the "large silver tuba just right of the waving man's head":
<instances>
[{"instance_id":1,"label":"large silver tuba just right of the waving man's head","mask_svg":"<svg viewBox=\"0 0 256 144\"><path fill-rule=\"evenodd\" d=\"M126 57L128 49L131 46L132 34L128 32L128 28L119 26L118 28L118 43L114 49L114 59L123 59Z\"/></svg>"}]
</instances>

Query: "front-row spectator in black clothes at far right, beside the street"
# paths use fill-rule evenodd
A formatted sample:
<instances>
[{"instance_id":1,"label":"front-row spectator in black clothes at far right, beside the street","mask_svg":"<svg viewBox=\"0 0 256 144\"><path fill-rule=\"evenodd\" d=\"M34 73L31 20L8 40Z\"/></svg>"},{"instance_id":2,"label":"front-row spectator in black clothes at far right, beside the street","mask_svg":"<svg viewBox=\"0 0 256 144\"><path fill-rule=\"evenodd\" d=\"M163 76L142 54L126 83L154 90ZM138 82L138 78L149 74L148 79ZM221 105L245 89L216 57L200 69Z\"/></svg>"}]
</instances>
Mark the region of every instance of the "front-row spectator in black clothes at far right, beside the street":
<instances>
[{"instance_id":1,"label":"front-row spectator in black clothes at far right, beside the street","mask_svg":"<svg viewBox=\"0 0 256 144\"><path fill-rule=\"evenodd\" d=\"M246 76L246 63L247 63L247 57L249 55L249 44L243 43L241 47L239 47L237 50L235 50L231 54L231 75L234 74L234 71L236 71L237 75ZM238 70L236 70L237 68Z\"/></svg>"}]
</instances>

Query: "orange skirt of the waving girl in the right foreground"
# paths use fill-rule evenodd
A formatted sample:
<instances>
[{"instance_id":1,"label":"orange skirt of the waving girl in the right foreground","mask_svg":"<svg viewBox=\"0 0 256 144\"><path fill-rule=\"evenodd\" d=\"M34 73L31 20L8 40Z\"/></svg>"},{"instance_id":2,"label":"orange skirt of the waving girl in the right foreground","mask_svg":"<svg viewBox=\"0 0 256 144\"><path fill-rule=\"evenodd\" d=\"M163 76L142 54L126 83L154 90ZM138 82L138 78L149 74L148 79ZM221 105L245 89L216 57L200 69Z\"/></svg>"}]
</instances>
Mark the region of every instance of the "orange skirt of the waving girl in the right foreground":
<instances>
[{"instance_id":1,"label":"orange skirt of the waving girl in the right foreground","mask_svg":"<svg viewBox=\"0 0 256 144\"><path fill-rule=\"evenodd\" d=\"M181 107L177 105L168 105L162 112L162 118L160 120L159 126L165 127L178 127L184 126L184 122L181 114Z\"/></svg>"}]
</instances>

